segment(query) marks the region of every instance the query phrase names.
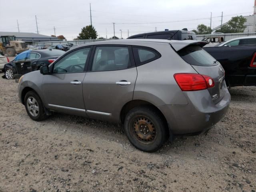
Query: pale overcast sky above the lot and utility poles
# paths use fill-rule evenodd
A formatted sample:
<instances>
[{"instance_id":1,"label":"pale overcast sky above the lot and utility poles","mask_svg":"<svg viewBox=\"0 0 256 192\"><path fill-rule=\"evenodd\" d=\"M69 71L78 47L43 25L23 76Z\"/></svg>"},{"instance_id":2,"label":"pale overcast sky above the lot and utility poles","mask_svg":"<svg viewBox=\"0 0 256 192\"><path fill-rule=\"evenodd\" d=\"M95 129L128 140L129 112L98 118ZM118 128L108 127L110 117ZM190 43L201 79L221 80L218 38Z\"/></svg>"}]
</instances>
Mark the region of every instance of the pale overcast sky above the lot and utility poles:
<instances>
[{"instance_id":1,"label":"pale overcast sky above the lot and utility poles","mask_svg":"<svg viewBox=\"0 0 256 192\"><path fill-rule=\"evenodd\" d=\"M98 37L129 36L188 28L198 24L212 28L232 16L253 14L254 0L0 0L0 31L36 32L37 16L39 34L64 35L68 40L76 38L81 28L90 25L90 3L92 25Z\"/></svg>"}]
</instances>

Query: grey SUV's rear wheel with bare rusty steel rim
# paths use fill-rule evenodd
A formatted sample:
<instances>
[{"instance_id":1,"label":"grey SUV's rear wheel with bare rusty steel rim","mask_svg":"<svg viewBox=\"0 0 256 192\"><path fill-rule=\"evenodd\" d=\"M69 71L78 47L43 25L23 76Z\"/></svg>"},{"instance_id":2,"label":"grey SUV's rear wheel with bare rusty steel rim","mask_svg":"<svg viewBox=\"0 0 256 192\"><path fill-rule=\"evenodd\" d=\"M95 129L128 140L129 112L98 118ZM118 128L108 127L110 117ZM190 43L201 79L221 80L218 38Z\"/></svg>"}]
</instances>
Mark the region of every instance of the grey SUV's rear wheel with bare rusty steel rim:
<instances>
[{"instance_id":1,"label":"grey SUV's rear wheel with bare rusty steel rim","mask_svg":"<svg viewBox=\"0 0 256 192\"><path fill-rule=\"evenodd\" d=\"M126 114L124 132L134 147L155 152L168 138L164 118L150 106L133 108Z\"/></svg>"}]
</instances>

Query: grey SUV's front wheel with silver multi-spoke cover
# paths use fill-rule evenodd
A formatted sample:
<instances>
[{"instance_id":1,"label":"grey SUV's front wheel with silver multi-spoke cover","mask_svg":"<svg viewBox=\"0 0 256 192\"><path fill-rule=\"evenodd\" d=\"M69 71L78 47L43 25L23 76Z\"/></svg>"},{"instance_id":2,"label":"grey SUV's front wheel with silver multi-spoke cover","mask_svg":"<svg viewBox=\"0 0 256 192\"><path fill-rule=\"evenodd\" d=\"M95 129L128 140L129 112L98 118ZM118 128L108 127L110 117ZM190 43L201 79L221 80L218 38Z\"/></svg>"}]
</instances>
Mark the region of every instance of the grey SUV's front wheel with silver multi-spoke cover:
<instances>
[{"instance_id":1,"label":"grey SUV's front wheel with silver multi-spoke cover","mask_svg":"<svg viewBox=\"0 0 256 192\"><path fill-rule=\"evenodd\" d=\"M34 104L32 104L33 102L34 102ZM32 120L42 121L48 117L45 114L44 105L42 103L42 100L40 99L38 94L36 94L36 92L34 92L34 91L27 92L27 94L25 95L25 98L24 98L24 105L25 105L26 111L28 113L28 116ZM33 106L34 106L34 110L37 111L35 113L33 110Z\"/></svg>"}]
</instances>

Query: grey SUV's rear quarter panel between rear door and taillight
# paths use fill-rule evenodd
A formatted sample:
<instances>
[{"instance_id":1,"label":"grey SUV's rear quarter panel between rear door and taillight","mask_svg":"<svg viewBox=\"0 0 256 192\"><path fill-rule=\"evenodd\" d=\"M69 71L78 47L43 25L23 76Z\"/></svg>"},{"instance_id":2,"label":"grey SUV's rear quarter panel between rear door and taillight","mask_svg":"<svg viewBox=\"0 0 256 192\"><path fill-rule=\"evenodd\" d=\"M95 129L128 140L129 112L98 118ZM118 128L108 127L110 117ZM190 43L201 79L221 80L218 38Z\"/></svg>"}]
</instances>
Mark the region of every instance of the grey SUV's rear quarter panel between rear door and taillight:
<instances>
[{"instance_id":1,"label":"grey SUV's rear quarter panel between rear door and taillight","mask_svg":"<svg viewBox=\"0 0 256 192\"><path fill-rule=\"evenodd\" d=\"M137 67L138 76L134 88L134 100L146 100L155 106L187 105L188 101L173 75L197 73L184 62L170 44L151 44L161 57Z\"/></svg>"}]
</instances>

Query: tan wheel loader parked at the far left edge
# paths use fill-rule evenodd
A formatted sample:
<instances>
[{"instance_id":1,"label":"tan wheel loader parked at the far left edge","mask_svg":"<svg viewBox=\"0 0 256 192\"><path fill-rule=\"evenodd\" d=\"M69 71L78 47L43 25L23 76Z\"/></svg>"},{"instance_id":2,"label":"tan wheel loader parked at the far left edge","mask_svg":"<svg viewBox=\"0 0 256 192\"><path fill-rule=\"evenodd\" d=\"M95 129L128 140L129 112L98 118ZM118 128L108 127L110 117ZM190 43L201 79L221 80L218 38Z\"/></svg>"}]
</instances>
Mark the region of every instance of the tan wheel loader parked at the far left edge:
<instances>
[{"instance_id":1,"label":"tan wheel loader parked at the far left edge","mask_svg":"<svg viewBox=\"0 0 256 192\"><path fill-rule=\"evenodd\" d=\"M15 56L28 50L24 41L16 41L15 36L0 36L0 52L7 56Z\"/></svg>"}]
</instances>

